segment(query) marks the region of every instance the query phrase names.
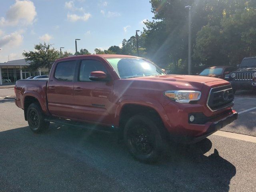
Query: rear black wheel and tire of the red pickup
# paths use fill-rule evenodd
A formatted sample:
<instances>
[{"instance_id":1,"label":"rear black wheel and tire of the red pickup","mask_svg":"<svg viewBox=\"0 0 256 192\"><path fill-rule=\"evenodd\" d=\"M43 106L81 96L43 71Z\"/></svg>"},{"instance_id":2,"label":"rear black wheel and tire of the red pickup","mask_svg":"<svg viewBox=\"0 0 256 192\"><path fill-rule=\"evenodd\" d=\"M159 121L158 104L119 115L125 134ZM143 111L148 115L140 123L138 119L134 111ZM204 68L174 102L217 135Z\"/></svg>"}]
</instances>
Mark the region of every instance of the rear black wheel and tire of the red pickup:
<instances>
[{"instance_id":1,"label":"rear black wheel and tire of the red pickup","mask_svg":"<svg viewBox=\"0 0 256 192\"><path fill-rule=\"evenodd\" d=\"M44 121L44 114L41 107L32 103L27 110L28 126L34 133L42 132L49 128L50 122Z\"/></svg>"}]
</instances>

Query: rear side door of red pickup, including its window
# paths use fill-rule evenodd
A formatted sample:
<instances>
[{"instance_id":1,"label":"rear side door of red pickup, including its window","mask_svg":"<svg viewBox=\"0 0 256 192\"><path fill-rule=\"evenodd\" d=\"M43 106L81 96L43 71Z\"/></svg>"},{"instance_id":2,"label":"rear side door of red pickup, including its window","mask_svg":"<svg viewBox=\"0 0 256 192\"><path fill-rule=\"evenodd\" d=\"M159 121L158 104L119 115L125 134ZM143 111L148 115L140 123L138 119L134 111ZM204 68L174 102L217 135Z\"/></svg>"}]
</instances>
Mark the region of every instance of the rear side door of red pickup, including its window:
<instances>
[{"instance_id":1,"label":"rear side door of red pickup, including its window","mask_svg":"<svg viewBox=\"0 0 256 192\"><path fill-rule=\"evenodd\" d=\"M74 72L76 60L59 62L47 86L48 109L53 116L74 117Z\"/></svg>"}]
</instances>

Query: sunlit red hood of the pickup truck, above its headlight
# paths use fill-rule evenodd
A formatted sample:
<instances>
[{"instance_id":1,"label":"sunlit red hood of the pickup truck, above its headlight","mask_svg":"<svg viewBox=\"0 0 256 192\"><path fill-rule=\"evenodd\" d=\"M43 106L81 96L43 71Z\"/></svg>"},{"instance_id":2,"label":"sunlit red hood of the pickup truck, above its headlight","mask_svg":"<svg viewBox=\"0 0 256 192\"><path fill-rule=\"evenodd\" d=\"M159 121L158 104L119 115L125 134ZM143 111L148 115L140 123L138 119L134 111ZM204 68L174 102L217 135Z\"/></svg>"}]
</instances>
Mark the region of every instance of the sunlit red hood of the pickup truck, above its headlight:
<instances>
[{"instance_id":1,"label":"sunlit red hood of the pickup truck, above its headlight","mask_svg":"<svg viewBox=\"0 0 256 192\"><path fill-rule=\"evenodd\" d=\"M193 75L162 75L130 78L128 80L163 82L173 86L173 89L201 90L202 86L214 86L215 84L228 84L227 81L219 78L193 76Z\"/></svg>"}]
</instances>

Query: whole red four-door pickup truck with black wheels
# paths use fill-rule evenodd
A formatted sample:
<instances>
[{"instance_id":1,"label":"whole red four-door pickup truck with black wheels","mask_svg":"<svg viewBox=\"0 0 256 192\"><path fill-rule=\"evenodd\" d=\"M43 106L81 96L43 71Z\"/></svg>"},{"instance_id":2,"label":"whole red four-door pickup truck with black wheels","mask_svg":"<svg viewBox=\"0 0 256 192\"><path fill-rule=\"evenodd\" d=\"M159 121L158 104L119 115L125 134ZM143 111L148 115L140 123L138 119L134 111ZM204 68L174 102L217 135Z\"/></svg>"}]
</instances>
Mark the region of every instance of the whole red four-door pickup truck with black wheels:
<instances>
[{"instance_id":1,"label":"whole red four-door pickup truck with black wheels","mask_svg":"<svg viewBox=\"0 0 256 192\"><path fill-rule=\"evenodd\" d=\"M50 122L122 134L140 161L156 161L165 141L198 142L238 118L230 83L166 75L144 58L86 55L54 62L49 79L18 80L16 105L33 132Z\"/></svg>"}]
</instances>

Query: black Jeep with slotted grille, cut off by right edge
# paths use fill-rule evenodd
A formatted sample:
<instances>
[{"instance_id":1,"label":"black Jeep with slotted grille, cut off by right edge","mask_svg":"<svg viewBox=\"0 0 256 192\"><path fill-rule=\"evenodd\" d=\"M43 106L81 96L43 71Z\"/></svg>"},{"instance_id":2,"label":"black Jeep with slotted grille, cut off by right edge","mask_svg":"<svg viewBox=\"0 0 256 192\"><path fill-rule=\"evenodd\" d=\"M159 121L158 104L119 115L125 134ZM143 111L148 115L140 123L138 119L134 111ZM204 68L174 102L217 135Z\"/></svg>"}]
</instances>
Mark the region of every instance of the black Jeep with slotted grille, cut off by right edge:
<instances>
[{"instance_id":1,"label":"black Jeep with slotted grille, cut off by right edge","mask_svg":"<svg viewBox=\"0 0 256 192\"><path fill-rule=\"evenodd\" d=\"M238 70L230 73L229 81L233 90L256 90L256 57L244 58Z\"/></svg>"}]
</instances>

